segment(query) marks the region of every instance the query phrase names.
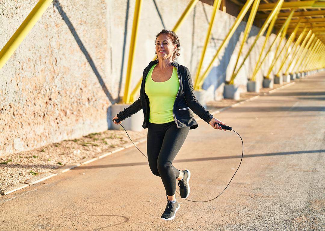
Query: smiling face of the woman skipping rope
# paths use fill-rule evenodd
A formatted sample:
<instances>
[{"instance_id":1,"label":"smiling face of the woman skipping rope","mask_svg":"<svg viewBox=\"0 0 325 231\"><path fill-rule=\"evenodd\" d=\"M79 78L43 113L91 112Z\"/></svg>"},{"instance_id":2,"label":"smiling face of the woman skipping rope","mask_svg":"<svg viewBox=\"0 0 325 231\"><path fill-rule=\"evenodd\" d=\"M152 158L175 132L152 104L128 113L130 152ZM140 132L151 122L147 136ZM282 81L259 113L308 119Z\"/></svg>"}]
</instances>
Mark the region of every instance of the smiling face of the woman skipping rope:
<instances>
[{"instance_id":1,"label":"smiling face of the woman skipping rope","mask_svg":"<svg viewBox=\"0 0 325 231\"><path fill-rule=\"evenodd\" d=\"M156 53L160 59L172 59L176 48L167 34L161 34L156 39Z\"/></svg>"}]
</instances>

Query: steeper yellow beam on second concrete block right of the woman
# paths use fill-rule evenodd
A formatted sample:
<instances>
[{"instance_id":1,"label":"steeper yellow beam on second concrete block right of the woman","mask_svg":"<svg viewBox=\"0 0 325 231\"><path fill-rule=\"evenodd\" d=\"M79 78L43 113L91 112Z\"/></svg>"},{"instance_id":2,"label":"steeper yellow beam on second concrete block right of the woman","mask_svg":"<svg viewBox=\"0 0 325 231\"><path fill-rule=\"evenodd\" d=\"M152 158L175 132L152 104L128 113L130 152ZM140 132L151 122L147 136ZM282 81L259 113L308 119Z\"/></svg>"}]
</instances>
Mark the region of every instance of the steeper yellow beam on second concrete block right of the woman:
<instances>
[{"instance_id":1,"label":"steeper yellow beam on second concrete block right of the woman","mask_svg":"<svg viewBox=\"0 0 325 231\"><path fill-rule=\"evenodd\" d=\"M239 49L239 52L238 52L237 60L236 60L234 70L232 72L232 76L230 78L229 84L234 84L234 79L236 78L236 75L237 75L237 73L235 75L235 72L236 72L236 67L237 67L237 64L238 64L238 61L239 61L239 58L240 58L240 53L241 53L241 50L242 50L242 48L243 48L243 46L244 46L244 44L245 44L245 42L246 42L246 40L248 38L248 35L249 35L249 33L250 33L251 29L252 29L253 21L254 21L254 18L255 18L257 8L258 8L259 4L260 4L260 0L254 0L253 6L252 6L252 11L249 14L249 17L248 17L248 20L247 20L247 24L246 24L246 27L245 27L245 30L244 30L243 39L241 41L241 45L240 45L240 49Z\"/></svg>"}]
</instances>

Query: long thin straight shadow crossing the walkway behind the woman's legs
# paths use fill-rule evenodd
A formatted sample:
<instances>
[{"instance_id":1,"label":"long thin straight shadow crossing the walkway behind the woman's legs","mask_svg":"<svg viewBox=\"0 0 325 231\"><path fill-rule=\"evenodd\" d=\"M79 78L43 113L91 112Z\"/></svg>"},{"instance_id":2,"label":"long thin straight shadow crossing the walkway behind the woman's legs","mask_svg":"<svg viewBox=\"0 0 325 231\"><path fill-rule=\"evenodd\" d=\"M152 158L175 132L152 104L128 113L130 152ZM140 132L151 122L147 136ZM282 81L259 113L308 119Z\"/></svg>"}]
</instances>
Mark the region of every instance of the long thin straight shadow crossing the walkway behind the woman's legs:
<instances>
[{"instance_id":1,"label":"long thin straight shadow crossing the walkway behind the woman's legs","mask_svg":"<svg viewBox=\"0 0 325 231\"><path fill-rule=\"evenodd\" d=\"M307 151L292 151L292 152L272 152L272 153L262 153L262 154L248 154L243 155L243 158L247 157L262 157L262 156L279 156L279 155L292 155L292 154L305 154L305 153L320 153L325 152L325 149L319 150L307 150ZM207 160L223 160L223 159L234 159L240 158L241 155L237 156L215 156L215 157L205 157L205 158L192 158L192 159L182 159L174 160L173 163L179 162L193 162L193 161L207 161ZM80 169L90 169L90 168L104 168L104 167L126 167L126 166L139 166L139 165L149 165L148 162L136 162L136 163L121 163L121 164L110 164L110 165L96 165L96 166L79 166L71 170Z\"/></svg>"}]
</instances>

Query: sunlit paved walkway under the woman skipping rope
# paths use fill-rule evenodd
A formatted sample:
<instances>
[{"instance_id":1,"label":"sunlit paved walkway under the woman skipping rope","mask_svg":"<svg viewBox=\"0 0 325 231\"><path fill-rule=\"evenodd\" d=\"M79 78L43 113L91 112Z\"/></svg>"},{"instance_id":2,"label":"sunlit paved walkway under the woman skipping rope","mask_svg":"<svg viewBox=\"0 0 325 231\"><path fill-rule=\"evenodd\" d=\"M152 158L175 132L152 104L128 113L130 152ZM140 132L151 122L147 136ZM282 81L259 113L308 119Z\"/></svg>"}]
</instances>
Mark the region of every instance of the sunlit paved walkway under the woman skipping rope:
<instances>
[{"instance_id":1,"label":"sunlit paved walkway under the woman skipping rope","mask_svg":"<svg viewBox=\"0 0 325 231\"><path fill-rule=\"evenodd\" d=\"M0 230L321 230L325 227L325 75L225 110L244 158L216 200L181 203L172 221L159 177L136 148L0 198ZM204 121L174 165L190 169L190 200L214 198L240 162L233 132ZM146 144L138 145L146 151ZM178 190L178 188L177 188Z\"/></svg>"}]
</instances>

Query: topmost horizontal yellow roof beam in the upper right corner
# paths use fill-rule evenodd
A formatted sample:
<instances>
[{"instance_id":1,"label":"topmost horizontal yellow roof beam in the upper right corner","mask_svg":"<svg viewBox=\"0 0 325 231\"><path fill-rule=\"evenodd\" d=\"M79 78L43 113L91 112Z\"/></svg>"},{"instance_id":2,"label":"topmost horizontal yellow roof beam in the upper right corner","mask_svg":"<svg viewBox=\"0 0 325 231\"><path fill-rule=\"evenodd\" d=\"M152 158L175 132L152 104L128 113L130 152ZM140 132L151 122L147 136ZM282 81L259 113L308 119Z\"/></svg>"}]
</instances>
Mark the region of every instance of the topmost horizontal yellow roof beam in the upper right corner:
<instances>
[{"instance_id":1,"label":"topmost horizontal yellow roof beam in the upper right corner","mask_svg":"<svg viewBox=\"0 0 325 231\"><path fill-rule=\"evenodd\" d=\"M261 4L258 7L258 10L272 10L275 6L275 3ZM294 1L294 2L285 2L283 3L281 9L291 9L291 8L318 8L325 7L324 1Z\"/></svg>"}]
</instances>

